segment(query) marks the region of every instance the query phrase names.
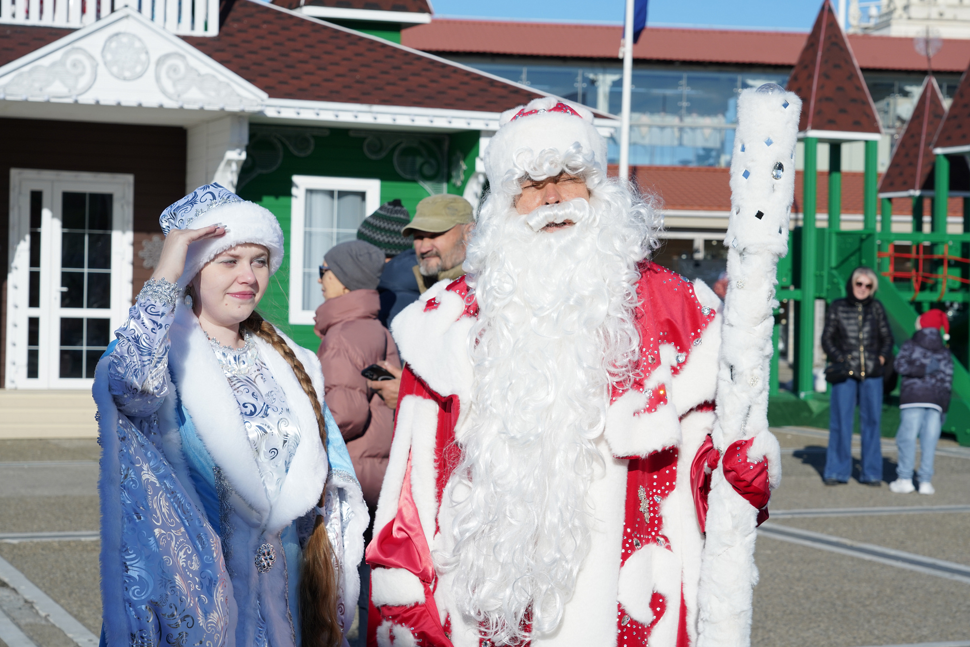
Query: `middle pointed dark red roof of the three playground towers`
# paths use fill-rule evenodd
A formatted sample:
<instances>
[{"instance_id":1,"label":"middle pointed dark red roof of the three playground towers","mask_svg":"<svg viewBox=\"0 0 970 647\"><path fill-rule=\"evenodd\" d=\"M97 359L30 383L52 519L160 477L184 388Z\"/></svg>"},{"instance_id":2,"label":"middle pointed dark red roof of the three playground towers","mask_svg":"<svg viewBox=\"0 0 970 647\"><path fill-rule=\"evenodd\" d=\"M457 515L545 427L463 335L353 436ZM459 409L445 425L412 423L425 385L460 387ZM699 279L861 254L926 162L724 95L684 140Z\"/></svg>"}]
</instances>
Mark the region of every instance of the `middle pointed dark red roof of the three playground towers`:
<instances>
[{"instance_id":1,"label":"middle pointed dark red roof of the three playground towers","mask_svg":"<svg viewBox=\"0 0 970 647\"><path fill-rule=\"evenodd\" d=\"M913 115L892 151L889 168L879 184L880 193L918 190L933 170L933 137L947 109L936 79L926 79Z\"/></svg>"}]
</instances>

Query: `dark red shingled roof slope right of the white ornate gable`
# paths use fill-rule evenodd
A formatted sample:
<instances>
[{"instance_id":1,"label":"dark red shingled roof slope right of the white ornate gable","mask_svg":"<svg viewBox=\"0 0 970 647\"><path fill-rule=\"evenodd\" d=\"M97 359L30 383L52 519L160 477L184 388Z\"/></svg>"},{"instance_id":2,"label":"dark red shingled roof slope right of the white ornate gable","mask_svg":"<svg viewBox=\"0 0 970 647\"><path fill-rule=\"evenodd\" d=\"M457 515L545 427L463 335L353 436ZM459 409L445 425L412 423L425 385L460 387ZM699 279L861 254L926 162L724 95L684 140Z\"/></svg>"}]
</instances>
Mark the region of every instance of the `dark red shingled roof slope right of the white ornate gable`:
<instances>
[{"instance_id":1,"label":"dark red shingled roof slope right of the white ornate gable","mask_svg":"<svg viewBox=\"0 0 970 647\"><path fill-rule=\"evenodd\" d=\"M183 37L273 98L501 112L542 96L256 0L214 38Z\"/></svg>"}]
</instances>

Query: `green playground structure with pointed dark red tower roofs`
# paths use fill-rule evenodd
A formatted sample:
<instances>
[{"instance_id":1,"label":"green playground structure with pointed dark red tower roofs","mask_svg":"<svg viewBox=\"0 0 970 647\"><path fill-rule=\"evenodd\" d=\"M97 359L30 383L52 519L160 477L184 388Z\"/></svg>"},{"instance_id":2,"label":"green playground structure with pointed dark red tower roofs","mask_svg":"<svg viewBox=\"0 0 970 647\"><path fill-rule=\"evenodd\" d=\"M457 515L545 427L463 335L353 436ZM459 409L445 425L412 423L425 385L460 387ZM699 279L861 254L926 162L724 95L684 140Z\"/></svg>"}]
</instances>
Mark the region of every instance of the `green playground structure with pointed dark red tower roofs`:
<instances>
[{"instance_id":1,"label":"green playground structure with pointed dark red tower roofs","mask_svg":"<svg viewBox=\"0 0 970 647\"><path fill-rule=\"evenodd\" d=\"M804 149L801 224L792 231L789 255L778 266L778 299L794 317L792 388L779 388L781 318L776 316L768 418L772 425L828 427L827 393L816 391L816 300L845 296L852 271L866 265L880 275L879 299L889 314L896 344L915 332L916 319L929 307L953 308L970 302L970 75L964 73L949 111L932 75L909 123L897 140L889 168L879 178L877 152L882 126L855 56L824 3L792 70L788 89L803 100L800 139ZM864 142L862 228L846 230L842 213L842 145ZM828 144L828 220L816 226L818 149ZM962 227L952 221L951 199L962 199ZM929 203L930 231L923 206ZM893 231L893 205L912 208L912 225ZM881 209L877 209L881 207ZM880 211L880 212L877 212ZM794 219L794 218L793 218ZM955 220L955 218L954 218ZM905 223L903 223L905 225ZM796 304L792 308L792 304ZM946 306L944 306L946 304ZM793 313L792 313L793 310ZM790 329L791 330L791 329ZM966 333L964 332L964 335ZM970 372L964 348L952 340L954 387L944 432L970 446ZM883 436L895 436L898 408L884 405Z\"/></svg>"}]
</instances>

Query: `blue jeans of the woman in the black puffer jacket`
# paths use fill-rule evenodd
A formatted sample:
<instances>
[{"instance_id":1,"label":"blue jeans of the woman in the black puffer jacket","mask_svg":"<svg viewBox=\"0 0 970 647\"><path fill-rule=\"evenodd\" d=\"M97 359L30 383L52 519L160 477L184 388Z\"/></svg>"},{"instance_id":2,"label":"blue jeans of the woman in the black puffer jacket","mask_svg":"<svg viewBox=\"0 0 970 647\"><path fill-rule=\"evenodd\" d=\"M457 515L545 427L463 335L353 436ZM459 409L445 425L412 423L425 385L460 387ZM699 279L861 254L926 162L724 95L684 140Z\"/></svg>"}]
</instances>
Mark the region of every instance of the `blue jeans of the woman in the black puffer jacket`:
<instances>
[{"instance_id":1,"label":"blue jeans of the woman in the black puffer jacket","mask_svg":"<svg viewBox=\"0 0 970 647\"><path fill-rule=\"evenodd\" d=\"M824 478L846 483L852 475L853 417L858 405L862 432L862 469L859 482L883 480L883 448L879 423L883 416L883 378L847 379L832 384L829 399L828 451Z\"/></svg>"}]
</instances>

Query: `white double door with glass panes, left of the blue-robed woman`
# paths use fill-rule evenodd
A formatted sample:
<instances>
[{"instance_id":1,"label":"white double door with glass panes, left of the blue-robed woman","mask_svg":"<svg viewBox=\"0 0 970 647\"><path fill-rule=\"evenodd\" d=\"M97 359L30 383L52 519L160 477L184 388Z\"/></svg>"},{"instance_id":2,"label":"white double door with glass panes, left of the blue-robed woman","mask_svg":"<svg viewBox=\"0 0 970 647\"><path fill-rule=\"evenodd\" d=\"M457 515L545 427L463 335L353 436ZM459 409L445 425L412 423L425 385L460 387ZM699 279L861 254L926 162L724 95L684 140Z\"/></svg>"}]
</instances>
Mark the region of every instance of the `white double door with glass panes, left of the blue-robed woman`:
<instances>
[{"instance_id":1,"label":"white double door with glass panes, left of the blue-robed woman","mask_svg":"<svg viewBox=\"0 0 970 647\"><path fill-rule=\"evenodd\" d=\"M90 388L131 306L129 175L14 169L7 388Z\"/></svg>"}]
</instances>

